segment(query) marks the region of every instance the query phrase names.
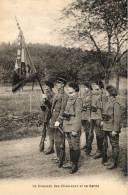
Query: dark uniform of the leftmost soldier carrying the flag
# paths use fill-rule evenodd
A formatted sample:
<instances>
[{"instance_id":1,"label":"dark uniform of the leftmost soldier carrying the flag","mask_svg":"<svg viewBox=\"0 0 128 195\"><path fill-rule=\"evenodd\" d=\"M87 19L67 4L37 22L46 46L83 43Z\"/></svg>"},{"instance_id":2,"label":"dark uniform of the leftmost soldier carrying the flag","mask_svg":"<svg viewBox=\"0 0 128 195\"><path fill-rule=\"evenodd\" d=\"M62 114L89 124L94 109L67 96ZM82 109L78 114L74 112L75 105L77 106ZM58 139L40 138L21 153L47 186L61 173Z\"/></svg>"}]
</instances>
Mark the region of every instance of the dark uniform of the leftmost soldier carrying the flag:
<instances>
[{"instance_id":1,"label":"dark uniform of the leftmost soldier carrying the flag","mask_svg":"<svg viewBox=\"0 0 128 195\"><path fill-rule=\"evenodd\" d=\"M46 132L49 128L49 120L51 117L51 105L52 105L52 98L53 98L53 92L52 89L49 89L46 92L46 99L43 99L41 102L41 109L42 109L42 115L41 115L41 120L43 122L43 130L42 130L42 136L41 136L41 141L40 141L40 151L44 150L44 141L46 138Z\"/></svg>"}]
</instances>

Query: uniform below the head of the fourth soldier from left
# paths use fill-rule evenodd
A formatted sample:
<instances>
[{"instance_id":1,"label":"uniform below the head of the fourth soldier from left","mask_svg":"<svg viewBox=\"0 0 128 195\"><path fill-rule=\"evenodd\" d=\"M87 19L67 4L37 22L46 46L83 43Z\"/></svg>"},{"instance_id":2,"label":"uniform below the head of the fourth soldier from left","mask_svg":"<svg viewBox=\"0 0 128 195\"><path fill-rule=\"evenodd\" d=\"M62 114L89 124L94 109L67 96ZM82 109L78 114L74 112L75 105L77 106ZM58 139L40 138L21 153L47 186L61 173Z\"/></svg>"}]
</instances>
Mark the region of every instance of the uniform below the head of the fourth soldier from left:
<instances>
[{"instance_id":1,"label":"uniform below the head of the fourth soldier from left","mask_svg":"<svg viewBox=\"0 0 128 195\"><path fill-rule=\"evenodd\" d=\"M88 91L87 93L84 93L82 96L82 126L85 132L86 137L86 145L84 146L84 149L87 147L88 143L88 136L89 136L89 130L90 130L90 117L91 117L91 91Z\"/></svg>"}]
</instances>

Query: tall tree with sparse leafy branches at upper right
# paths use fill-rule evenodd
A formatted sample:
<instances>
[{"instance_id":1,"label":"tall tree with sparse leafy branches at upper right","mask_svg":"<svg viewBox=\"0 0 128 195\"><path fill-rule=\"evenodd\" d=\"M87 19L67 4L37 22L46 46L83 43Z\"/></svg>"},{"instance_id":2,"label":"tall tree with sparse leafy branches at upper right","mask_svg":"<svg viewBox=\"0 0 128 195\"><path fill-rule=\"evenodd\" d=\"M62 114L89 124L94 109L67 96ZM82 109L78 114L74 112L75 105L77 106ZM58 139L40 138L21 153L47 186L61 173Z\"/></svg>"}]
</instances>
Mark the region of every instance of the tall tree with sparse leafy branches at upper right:
<instances>
[{"instance_id":1,"label":"tall tree with sparse leafy branches at upper right","mask_svg":"<svg viewBox=\"0 0 128 195\"><path fill-rule=\"evenodd\" d=\"M113 68L118 67L127 40L126 0L75 0L63 10L69 18L62 31L72 40L93 44L105 82ZM98 43L99 41L99 43ZM102 55L106 51L106 56Z\"/></svg>"}]
</instances>

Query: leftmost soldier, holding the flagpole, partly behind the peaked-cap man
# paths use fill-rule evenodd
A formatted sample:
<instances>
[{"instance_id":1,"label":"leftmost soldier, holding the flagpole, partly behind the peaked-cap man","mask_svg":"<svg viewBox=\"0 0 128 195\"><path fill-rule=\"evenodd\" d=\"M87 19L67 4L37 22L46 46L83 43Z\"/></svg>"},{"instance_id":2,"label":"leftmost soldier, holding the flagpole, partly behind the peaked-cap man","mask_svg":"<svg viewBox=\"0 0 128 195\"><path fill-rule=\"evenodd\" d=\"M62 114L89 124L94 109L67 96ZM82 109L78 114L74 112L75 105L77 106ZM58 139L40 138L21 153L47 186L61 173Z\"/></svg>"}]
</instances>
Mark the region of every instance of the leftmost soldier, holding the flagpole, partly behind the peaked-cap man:
<instances>
[{"instance_id":1,"label":"leftmost soldier, holding the flagpole, partly behind the peaked-cap man","mask_svg":"<svg viewBox=\"0 0 128 195\"><path fill-rule=\"evenodd\" d=\"M51 105L52 105L52 98L53 98L53 91L52 88L54 87L52 81L48 80L44 82L44 94L42 95L42 104L41 104L41 110L42 110L42 121L43 121L43 130L42 130L42 136L41 141L39 145L40 151L44 151L44 141L46 138L46 132L49 128L49 120L51 117Z\"/></svg>"}]
</instances>

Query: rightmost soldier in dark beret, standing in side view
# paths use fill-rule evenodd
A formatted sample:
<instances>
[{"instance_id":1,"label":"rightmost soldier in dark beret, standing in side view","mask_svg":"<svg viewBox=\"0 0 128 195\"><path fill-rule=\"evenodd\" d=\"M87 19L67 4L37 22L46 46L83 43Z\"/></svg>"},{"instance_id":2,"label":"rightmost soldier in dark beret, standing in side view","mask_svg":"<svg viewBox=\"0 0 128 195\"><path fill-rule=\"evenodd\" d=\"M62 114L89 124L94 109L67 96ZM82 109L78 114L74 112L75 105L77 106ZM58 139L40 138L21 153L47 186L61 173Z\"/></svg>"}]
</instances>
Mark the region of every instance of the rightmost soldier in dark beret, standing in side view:
<instances>
[{"instance_id":1,"label":"rightmost soldier in dark beret, standing in side view","mask_svg":"<svg viewBox=\"0 0 128 195\"><path fill-rule=\"evenodd\" d=\"M114 169L117 167L119 157L120 104L116 98L117 90L111 85L107 86L106 90L109 97L103 109L103 132L104 139L108 137L112 146L112 162L106 163L107 147L104 143L102 163L107 165L107 169Z\"/></svg>"}]
</instances>

